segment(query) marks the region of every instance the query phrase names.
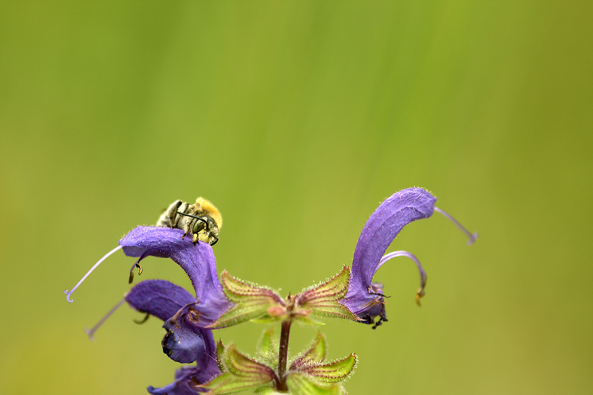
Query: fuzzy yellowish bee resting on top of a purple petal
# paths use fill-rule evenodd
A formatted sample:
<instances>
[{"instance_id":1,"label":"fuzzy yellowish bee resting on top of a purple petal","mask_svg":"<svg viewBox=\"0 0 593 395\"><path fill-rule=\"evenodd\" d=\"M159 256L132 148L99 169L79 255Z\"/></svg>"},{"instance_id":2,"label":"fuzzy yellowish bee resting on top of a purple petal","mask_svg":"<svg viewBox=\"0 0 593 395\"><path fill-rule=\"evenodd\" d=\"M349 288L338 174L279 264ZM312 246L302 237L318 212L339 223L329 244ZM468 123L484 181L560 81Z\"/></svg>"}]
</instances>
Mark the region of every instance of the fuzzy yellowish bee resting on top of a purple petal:
<instances>
[{"instance_id":1,"label":"fuzzy yellowish bee resting on top of a purple petal","mask_svg":"<svg viewBox=\"0 0 593 395\"><path fill-rule=\"evenodd\" d=\"M183 230L183 239L192 235L193 243L197 240L213 246L218 242L218 232L222 227L222 216L218 208L210 201L199 197L195 204L176 200L161 214L157 226L173 227Z\"/></svg>"}]
</instances>

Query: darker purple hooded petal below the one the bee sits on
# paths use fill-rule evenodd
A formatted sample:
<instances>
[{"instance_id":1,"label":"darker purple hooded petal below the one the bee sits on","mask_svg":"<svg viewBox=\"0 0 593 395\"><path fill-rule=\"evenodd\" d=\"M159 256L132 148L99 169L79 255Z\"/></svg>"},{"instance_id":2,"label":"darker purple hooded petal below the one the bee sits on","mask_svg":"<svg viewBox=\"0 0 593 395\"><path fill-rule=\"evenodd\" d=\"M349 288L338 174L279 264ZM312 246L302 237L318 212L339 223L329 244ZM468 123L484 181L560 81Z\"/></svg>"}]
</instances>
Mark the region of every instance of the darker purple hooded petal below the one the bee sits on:
<instances>
[{"instance_id":1,"label":"darker purple hooded petal below the one the bee sits on","mask_svg":"<svg viewBox=\"0 0 593 395\"><path fill-rule=\"evenodd\" d=\"M127 293L126 301L134 309L166 321L181 307L194 303L196 298L172 282L145 280L136 284Z\"/></svg>"}]
</instances>

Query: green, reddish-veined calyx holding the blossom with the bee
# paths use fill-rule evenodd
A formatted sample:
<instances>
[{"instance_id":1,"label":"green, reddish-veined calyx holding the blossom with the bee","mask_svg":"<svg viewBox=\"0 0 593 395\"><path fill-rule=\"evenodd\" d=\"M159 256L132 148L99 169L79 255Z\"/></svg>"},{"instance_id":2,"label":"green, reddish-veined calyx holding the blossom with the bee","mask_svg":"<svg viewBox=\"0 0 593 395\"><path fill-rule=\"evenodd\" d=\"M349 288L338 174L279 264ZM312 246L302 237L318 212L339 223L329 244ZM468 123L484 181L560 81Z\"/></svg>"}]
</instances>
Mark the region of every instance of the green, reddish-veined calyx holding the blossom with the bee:
<instances>
[{"instance_id":1,"label":"green, reddish-veined calyx holding the blossom with the bee","mask_svg":"<svg viewBox=\"0 0 593 395\"><path fill-rule=\"evenodd\" d=\"M274 311L277 316L286 311L284 301L272 290L237 280L226 270L221 273L221 282L225 296L234 306L209 325L209 329L237 325L257 319L269 311Z\"/></svg>"}]
</instances>

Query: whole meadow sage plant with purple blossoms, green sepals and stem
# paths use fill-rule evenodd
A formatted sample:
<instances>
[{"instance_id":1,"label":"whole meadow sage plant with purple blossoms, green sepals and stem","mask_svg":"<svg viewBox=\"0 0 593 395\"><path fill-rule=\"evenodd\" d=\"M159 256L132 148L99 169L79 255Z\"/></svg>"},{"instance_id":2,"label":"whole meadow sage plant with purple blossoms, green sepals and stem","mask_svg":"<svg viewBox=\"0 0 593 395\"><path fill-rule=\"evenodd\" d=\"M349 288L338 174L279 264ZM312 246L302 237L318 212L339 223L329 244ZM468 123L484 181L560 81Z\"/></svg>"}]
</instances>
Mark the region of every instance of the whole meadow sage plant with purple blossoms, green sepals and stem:
<instances>
[{"instance_id":1,"label":"whole meadow sage plant with purple blossoms, green sepals and stem","mask_svg":"<svg viewBox=\"0 0 593 395\"><path fill-rule=\"evenodd\" d=\"M408 188L387 198L372 213L358 239L352 269L344 266L329 281L305 288L298 294L282 297L267 287L238 280L222 271L219 281L212 247L208 243L182 239L183 231L167 227L139 226L119 242L119 247L107 253L66 298L72 301L72 292L107 256L123 249L127 256L138 260L146 256L170 258L189 276L196 297L169 281L146 280L139 282L126 294L97 328L117 307L127 302L133 309L155 316L164 322L166 331L162 350L184 366L177 370L175 381L162 388L148 387L151 394L195 395L197 393L229 394L254 391L262 394L291 393L343 394L340 381L352 372L356 355L350 354L333 362L326 361L326 340L319 333L311 346L300 354L288 357L288 341L293 322L318 324L321 317L336 317L377 328L387 321L383 285L372 282L375 272L396 256L412 259L420 271L420 289L416 301L424 295L426 273L416 256L406 251L385 251L404 226L412 221L428 218L434 211L452 220L469 238L471 234L449 214L435 207L436 198L422 188ZM222 282L222 284L221 284ZM376 320L376 321L375 321ZM234 344L215 343L213 330L251 321L279 324L280 337L273 329L264 331L257 355L242 354Z\"/></svg>"}]
</instances>

